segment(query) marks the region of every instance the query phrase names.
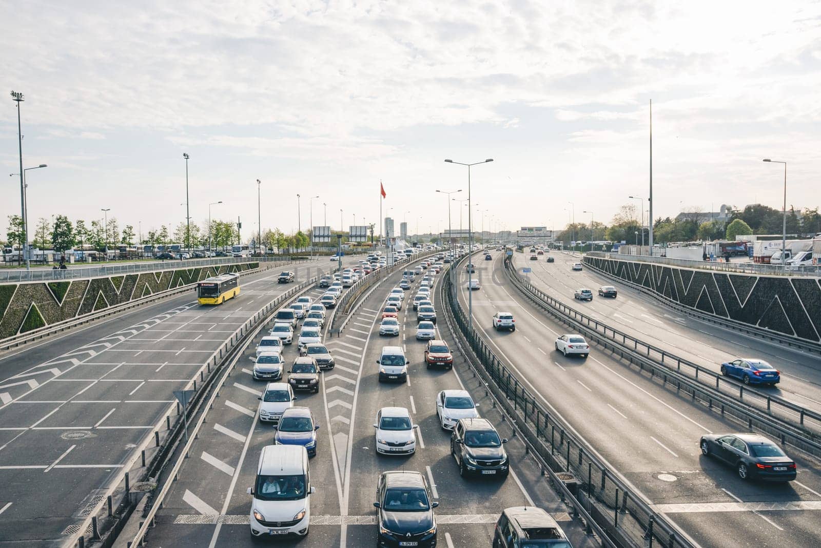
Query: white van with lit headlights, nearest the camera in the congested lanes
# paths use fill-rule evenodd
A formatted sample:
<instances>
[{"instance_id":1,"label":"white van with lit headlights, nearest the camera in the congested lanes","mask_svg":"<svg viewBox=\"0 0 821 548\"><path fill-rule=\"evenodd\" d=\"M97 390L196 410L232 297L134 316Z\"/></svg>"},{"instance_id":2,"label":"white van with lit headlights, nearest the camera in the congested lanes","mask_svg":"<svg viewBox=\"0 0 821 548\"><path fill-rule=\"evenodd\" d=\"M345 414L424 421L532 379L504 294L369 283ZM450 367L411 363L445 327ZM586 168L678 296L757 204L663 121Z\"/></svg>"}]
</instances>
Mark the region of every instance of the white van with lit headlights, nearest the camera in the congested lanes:
<instances>
[{"instance_id":1,"label":"white van with lit headlights, nearest the camera in the congested lanes","mask_svg":"<svg viewBox=\"0 0 821 548\"><path fill-rule=\"evenodd\" d=\"M266 445L251 495L251 537L305 537L310 522L308 452L302 445Z\"/></svg>"}]
</instances>

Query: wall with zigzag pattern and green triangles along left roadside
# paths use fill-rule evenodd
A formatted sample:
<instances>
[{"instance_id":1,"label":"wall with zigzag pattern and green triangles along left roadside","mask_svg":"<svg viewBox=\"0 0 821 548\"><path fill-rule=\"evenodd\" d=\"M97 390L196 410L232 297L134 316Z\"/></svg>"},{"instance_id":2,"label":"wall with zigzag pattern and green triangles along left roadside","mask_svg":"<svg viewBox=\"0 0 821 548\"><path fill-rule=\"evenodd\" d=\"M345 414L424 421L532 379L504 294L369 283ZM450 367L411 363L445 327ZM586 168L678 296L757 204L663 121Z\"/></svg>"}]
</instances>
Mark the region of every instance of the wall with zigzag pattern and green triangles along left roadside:
<instances>
[{"instance_id":1,"label":"wall with zigzag pattern and green triangles along left roadside","mask_svg":"<svg viewBox=\"0 0 821 548\"><path fill-rule=\"evenodd\" d=\"M0 339L259 263L0 285Z\"/></svg>"}]
</instances>

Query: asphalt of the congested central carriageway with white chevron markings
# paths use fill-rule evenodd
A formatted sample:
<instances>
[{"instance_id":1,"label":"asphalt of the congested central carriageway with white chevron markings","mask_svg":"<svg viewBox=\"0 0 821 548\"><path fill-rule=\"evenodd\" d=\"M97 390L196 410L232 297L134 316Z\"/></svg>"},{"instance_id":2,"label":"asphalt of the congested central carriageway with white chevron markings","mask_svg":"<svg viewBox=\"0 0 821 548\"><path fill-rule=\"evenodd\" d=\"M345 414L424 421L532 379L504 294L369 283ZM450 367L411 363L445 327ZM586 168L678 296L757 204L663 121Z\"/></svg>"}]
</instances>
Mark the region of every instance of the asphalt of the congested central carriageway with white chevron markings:
<instances>
[{"instance_id":1,"label":"asphalt of the congested central carriageway with white chevron markings","mask_svg":"<svg viewBox=\"0 0 821 548\"><path fill-rule=\"evenodd\" d=\"M411 265L415 263L410 263ZM401 335L380 337L378 323L388 292L401 279L394 272L366 296L341 336L326 335L325 343L336 368L322 373L318 394L298 392L296 405L307 406L321 425L317 454L310 460L312 482L310 535L299 546L374 546L376 521L373 503L378 474L392 469L424 473L432 486L440 546L490 546L493 526L502 509L514 505L539 505L552 513L571 536L574 546L598 546L586 537L580 523L572 522L566 505L558 500L524 445L511 439L511 475L507 480L463 479L449 456L450 432L438 425L435 398L439 390L465 387L480 405L480 413L493 422L502 437L511 428L500 420L480 382L458 355L452 371L424 366L423 341L415 340L415 313L409 305L419 281L406 291L400 313ZM312 295L319 295L314 291ZM441 303L437 302L442 314ZM441 317L441 316L440 316ZM439 322L440 336L452 336ZM378 382L378 358L383 345L402 345L410 359L406 383ZM250 357L255 345L245 354ZM284 352L287 362L296 357L296 344ZM232 381L221 390L219 404L209 411L207 423L181 468L177 482L158 511L149 546L253 546L248 527L255 466L264 445L273 442L273 427L259 422L257 397L264 382L250 375L251 361L240 358ZM420 425L417 449L411 456L378 456L374 453L374 428L378 409L410 409ZM297 541L286 541L292 546Z\"/></svg>"}]
</instances>

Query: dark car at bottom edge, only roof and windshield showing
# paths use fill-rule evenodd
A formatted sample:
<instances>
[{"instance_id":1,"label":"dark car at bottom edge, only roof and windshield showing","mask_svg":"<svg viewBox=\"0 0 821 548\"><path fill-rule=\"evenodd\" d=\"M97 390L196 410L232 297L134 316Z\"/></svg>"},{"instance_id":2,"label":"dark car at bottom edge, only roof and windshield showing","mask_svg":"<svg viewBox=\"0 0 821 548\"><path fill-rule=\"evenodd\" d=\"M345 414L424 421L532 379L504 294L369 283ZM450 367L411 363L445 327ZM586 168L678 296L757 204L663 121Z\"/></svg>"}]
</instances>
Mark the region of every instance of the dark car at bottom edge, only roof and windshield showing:
<instances>
[{"instance_id":1,"label":"dark car at bottom edge, only roof and windshield showing","mask_svg":"<svg viewBox=\"0 0 821 548\"><path fill-rule=\"evenodd\" d=\"M493 530L493 548L572 548L556 520L536 506L506 508Z\"/></svg>"}]
</instances>

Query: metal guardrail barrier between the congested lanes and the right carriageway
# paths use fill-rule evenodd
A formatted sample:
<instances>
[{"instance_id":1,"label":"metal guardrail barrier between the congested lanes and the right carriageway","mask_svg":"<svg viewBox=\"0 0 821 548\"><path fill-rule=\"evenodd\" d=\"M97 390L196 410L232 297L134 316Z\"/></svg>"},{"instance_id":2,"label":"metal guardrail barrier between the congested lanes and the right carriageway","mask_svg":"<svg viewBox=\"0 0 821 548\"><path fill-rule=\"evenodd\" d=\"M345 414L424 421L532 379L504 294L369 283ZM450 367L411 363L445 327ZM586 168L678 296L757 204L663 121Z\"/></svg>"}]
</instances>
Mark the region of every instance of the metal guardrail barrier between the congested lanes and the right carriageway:
<instances>
[{"instance_id":1,"label":"metal guardrail barrier between the congested lanes and the right carriageway","mask_svg":"<svg viewBox=\"0 0 821 548\"><path fill-rule=\"evenodd\" d=\"M452 266L452 274L456 270ZM589 526L594 527L603 546L612 546L612 541L634 547L654 546L655 543L667 548L698 546L666 516L656 514L644 495L603 462L569 423L531 394L475 329L468 331L467 316L456 297L456 287L452 276L445 276L443 299L458 331L479 363L475 371L484 379L488 390L498 395L497 400L503 408L517 418L516 428L523 432L522 438L544 470L552 478L556 477L554 485L575 483L578 486L575 495L566 486L559 487L560 493L571 495L571 505L585 517ZM554 474L554 468L561 472Z\"/></svg>"}]
</instances>

